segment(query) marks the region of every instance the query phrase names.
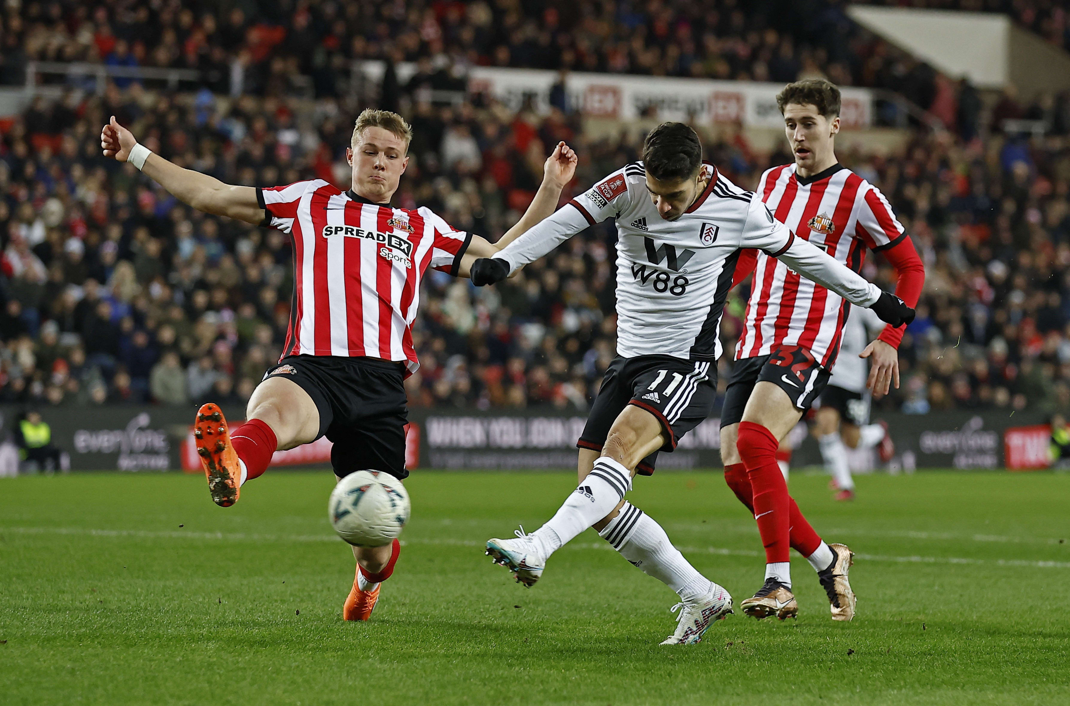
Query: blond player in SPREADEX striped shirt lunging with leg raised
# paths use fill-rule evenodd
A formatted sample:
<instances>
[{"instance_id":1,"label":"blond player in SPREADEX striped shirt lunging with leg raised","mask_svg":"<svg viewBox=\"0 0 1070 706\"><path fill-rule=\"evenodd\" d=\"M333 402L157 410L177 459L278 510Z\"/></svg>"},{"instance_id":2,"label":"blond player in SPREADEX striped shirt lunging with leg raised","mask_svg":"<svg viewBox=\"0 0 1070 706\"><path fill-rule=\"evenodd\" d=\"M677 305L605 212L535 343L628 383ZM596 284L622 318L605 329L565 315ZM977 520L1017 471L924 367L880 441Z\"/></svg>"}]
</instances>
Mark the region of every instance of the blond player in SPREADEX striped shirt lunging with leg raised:
<instances>
[{"instance_id":1,"label":"blond player in SPREADEX striped shirt lunging with leg raised","mask_svg":"<svg viewBox=\"0 0 1070 706\"><path fill-rule=\"evenodd\" d=\"M113 117L102 131L105 156L132 163L180 201L293 237L295 282L282 357L249 398L246 423L232 432L217 405L197 414L197 450L217 505L238 502L241 486L266 470L276 449L323 435L334 442L331 464L339 479L365 469L406 478L402 381L419 365L410 327L421 278L428 266L468 277L476 258L553 213L576 172L576 154L559 143L528 212L492 245L454 230L430 209L391 208L411 139L400 116L368 109L346 150L350 189L319 179L254 188L171 164L138 144ZM345 619L370 617L399 551L397 540L353 548L357 570Z\"/></svg>"}]
</instances>

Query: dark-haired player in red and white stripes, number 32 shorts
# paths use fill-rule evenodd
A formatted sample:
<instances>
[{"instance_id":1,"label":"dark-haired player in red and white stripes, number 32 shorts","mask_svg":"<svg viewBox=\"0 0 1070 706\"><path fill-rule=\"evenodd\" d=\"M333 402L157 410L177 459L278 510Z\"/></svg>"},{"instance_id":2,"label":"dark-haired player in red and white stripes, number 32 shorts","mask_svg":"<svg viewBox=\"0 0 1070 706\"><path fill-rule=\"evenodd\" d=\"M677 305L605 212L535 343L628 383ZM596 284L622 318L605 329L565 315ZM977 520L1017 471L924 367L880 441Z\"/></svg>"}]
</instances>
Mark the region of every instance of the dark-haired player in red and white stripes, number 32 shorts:
<instances>
[{"instance_id":1,"label":"dark-haired player in red and white stripes, number 32 shorts","mask_svg":"<svg viewBox=\"0 0 1070 706\"><path fill-rule=\"evenodd\" d=\"M758 198L796 241L820 247L853 272L861 268L867 247L883 254L898 274L897 301L913 307L924 281L914 244L881 191L836 158L839 89L823 79L789 83L777 104L795 162L763 173ZM754 279L721 412L721 459L725 481L758 521L766 565L764 584L740 605L756 618L796 615L788 562L794 547L817 571L832 619L850 620L855 613L847 580L853 554L844 544L826 544L806 521L788 493L776 451L828 383L843 322L857 302L804 279L798 267L766 252L746 257L754 263ZM742 266L737 278L747 270ZM911 311L904 323L913 320ZM889 322L861 353L872 358L869 387L881 394L892 382L899 386L896 349L903 329L896 323Z\"/></svg>"}]
</instances>

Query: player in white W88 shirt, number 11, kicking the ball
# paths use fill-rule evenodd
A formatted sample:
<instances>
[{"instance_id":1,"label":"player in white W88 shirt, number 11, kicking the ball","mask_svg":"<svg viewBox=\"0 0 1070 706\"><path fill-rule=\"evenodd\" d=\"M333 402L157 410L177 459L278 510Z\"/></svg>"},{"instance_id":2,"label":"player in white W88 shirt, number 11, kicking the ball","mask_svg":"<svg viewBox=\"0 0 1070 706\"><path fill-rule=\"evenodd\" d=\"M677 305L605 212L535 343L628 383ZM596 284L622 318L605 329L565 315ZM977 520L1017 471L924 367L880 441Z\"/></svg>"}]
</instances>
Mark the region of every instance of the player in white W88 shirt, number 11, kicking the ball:
<instances>
[{"instance_id":1,"label":"player in white W88 shirt, number 11, kicking the ball","mask_svg":"<svg viewBox=\"0 0 1070 706\"><path fill-rule=\"evenodd\" d=\"M781 258L897 325L913 310L796 239L759 197L702 162L699 136L683 123L662 123L646 137L642 162L613 172L493 258L477 260L472 281L501 281L608 218L618 233L617 357L577 444L579 487L539 530L491 539L487 553L530 586L554 551L594 526L626 559L679 595L676 631L662 644L691 644L731 612L732 598L624 496L637 470L652 473L653 455L672 451L712 411L721 311L739 248Z\"/></svg>"}]
</instances>

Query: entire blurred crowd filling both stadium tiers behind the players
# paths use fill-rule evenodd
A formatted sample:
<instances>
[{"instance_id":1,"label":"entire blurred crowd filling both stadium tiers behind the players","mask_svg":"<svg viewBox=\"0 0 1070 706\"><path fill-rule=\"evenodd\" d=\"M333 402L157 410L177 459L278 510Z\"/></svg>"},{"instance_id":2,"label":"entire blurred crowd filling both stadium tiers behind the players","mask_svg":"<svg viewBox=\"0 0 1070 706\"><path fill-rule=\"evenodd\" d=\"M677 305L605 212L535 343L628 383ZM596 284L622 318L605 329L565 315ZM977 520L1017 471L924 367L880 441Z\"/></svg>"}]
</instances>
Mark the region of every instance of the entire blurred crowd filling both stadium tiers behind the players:
<instances>
[{"instance_id":1,"label":"entire blurred crowd filling both stadium tiers behind the players","mask_svg":"<svg viewBox=\"0 0 1070 706\"><path fill-rule=\"evenodd\" d=\"M794 21L801 4L821 12ZM1050 41L1067 36L1051 3L929 4L1012 5ZM557 140L580 157L567 199L639 158L643 137L594 137L566 105L538 116L483 95L437 105L423 92L463 90L468 66L495 64L824 75L906 94L946 129L915 125L890 156L840 151L887 195L927 266L900 349L902 387L878 405L1070 414L1070 99L1022 104L1008 93L984 109L965 82L844 17L835 2L735 0L7 3L0 82L22 83L30 60L194 67L202 80L167 92L117 78L100 95L71 83L62 97L0 120L0 401L241 403L279 355L289 236L193 211L133 166L103 158L109 116L153 151L225 182L345 185L357 112L399 106L415 138L395 205L428 205L495 240L531 200ZM381 86L354 88L353 60L366 58L418 68L403 83L387 72ZM1007 119L1041 129L1007 131ZM706 158L746 188L791 159L755 149L742 131L700 134ZM586 409L614 355L615 237L611 222L591 228L496 288L429 272L410 404ZM880 257L863 274L895 286ZM745 283L731 295L727 351L746 294ZM720 363L722 390L730 357Z\"/></svg>"}]
</instances>

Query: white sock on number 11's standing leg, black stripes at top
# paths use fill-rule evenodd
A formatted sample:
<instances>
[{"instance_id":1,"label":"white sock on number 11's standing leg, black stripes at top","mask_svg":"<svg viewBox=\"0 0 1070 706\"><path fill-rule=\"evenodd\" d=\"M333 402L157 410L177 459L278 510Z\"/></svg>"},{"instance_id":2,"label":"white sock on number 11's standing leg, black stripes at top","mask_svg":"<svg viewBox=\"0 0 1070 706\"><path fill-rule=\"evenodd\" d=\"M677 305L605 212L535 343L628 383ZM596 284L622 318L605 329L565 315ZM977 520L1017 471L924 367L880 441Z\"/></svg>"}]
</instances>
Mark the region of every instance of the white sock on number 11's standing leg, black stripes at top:
<instances>
[{"instance_id":1,"label":"white sock on number 11's standing leg, black stripes at top","mask_svg":"<svg viewBox=\"0 0 1070 706\"><path fill-rule=\"evenodd\" d=\"M698 601L714 585L672 546L661 525L631 503L625 503L598 536L643 573L675 590L685 603Z\"/></svg>"}]
</instances>

